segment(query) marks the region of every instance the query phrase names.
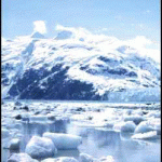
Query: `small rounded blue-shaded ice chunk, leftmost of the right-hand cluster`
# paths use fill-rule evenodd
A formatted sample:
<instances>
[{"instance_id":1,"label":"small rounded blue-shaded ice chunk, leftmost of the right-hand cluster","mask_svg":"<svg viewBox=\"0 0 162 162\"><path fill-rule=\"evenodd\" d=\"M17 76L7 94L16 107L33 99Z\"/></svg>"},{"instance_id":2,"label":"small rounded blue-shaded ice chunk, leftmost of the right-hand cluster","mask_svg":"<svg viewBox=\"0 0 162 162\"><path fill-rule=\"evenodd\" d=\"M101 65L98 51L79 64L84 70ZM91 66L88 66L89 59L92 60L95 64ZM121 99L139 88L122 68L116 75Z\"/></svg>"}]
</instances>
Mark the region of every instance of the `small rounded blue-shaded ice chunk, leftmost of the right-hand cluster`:
<instances>
[{"instance_id":1,"label":"small rounded blue-shaded ice chunk, leftmost of the right-hand cluster","mask_svg":"<svg viewBox=\"0 0 162 162\"><path fill-rule=\"evenodd\" d=\"M127 121L127 122L125 122L125 124L123 124L122 126L121 126L121 132L134 132L135 131L135 129L136 129L136 125L135 125L135 123L133 122L133 121Z\"/></svg>"}]
</instances>

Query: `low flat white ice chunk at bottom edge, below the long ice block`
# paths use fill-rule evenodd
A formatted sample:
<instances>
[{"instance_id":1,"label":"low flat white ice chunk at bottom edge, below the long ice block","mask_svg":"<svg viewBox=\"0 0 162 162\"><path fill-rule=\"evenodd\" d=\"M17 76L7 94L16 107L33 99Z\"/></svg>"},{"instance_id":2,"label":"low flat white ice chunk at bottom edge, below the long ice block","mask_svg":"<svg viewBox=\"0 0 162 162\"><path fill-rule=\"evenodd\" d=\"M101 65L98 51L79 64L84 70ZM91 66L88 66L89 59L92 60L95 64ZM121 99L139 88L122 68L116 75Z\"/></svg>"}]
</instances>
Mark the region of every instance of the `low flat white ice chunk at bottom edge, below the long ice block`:
<instances>
[{"instance_id":1,"label":"low flat white ice chunk at bottom edge, below the long ice block","mask_svg":"<svg viewBox=\"0 0 162 162\"><path fill-rule=\"evenodd\" d=\"M60 158L48 158L42 160L41 162L78 162L78 160L76 160L72 157L60 157Z\"/></svg>"}]
</instances>

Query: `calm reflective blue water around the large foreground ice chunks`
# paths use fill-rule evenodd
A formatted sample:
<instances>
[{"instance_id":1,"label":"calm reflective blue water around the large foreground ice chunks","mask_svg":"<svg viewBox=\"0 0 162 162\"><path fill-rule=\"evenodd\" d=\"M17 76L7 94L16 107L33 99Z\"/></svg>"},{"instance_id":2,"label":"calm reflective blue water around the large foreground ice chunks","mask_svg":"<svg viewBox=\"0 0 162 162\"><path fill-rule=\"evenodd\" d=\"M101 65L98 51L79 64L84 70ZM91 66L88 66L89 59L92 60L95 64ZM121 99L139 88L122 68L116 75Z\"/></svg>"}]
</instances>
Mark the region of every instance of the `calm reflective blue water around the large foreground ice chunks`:
<instances>
[{"instance_id":1,"label":"calm reflective blue water around the large foreground ice chunks","mask_svg":"<svg viewBox=\"0 0 162 162\"><path fill-rule=\"evenodd\" d=\"M121 134L110 130L80 127L64 120L53 123L22 123L21 152L33 135L42 136L44 132L70 133L82 136L78 150L58 150L56 157L75 157L80 152L102 158L112 156L116 162L158 162L160 161L160 143L145 143L131 139L131 134ZM13 153L2 150L2 161ZM137 159L138 158L138 159Z\"/></svg>"}]
</instances>

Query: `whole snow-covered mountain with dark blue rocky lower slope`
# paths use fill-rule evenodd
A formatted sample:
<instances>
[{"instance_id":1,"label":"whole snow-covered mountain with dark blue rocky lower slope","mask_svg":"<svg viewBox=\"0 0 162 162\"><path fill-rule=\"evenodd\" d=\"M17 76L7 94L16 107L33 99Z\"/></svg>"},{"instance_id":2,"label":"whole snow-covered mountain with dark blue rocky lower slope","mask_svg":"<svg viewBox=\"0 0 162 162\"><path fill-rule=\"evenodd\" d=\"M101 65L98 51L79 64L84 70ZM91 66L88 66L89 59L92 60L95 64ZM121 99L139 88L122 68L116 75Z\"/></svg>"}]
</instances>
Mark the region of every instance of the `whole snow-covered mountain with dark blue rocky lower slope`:
<instances>
[{"instance_id":1,"label":"whole snow-covered mountain with dark blue rocky lower slope","mask_svg":"<svg viewBox=\"0 0 162 162\"><path fill-rule=\"evenodd\" d=\"M60 31L2 40L2 98L160 100L160 65L112 37Z\"/></svg>"}]
</instances>

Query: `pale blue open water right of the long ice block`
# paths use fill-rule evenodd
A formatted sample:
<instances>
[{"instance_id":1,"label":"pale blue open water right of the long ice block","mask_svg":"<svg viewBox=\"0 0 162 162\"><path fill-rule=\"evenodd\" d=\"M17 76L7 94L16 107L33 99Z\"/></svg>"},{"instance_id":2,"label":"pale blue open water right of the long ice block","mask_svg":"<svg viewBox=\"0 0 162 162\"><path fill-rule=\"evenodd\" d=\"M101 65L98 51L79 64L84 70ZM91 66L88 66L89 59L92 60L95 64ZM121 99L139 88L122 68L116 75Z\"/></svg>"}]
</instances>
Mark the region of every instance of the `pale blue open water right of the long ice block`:
<instances>
[{"instance_id":1,"label":"pale blue open water right of the long ice block","mask_svg":"<svg viewBox=\"0 0 162 162\"><path fill-rule=\"evenodd\" d=\"M160 143L133 140L131 134L113 131L92 129L79 146L79 151L95 158L112 156L116 162L160 161Z\"/></svg>"}]
</instances>

